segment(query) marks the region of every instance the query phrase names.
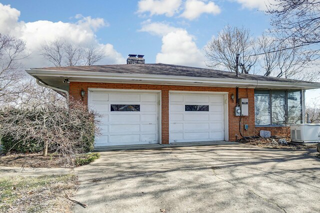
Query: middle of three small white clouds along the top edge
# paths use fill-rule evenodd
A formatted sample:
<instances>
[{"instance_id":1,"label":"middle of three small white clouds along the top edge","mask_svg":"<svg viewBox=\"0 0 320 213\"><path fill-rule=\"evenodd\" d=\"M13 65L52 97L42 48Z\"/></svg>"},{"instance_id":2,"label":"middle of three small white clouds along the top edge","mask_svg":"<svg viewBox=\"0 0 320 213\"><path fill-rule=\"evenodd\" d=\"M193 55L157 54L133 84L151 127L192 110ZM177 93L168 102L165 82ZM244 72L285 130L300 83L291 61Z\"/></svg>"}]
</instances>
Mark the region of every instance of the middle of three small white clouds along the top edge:
<instances>
[{"instance_id":1,"label":"middle of three small white clouds along the top edge","mask_svg":"<svg viewBox=\"0 0 320 213\"><path fill-rule=\"evenodd\" d=\"M212 1L205 3L202 0L186 0L184 7L184 11L180 16L189 20L199 17L202 13L216 15L221 11L220 7Z\"/></svg>"}]
</instances>

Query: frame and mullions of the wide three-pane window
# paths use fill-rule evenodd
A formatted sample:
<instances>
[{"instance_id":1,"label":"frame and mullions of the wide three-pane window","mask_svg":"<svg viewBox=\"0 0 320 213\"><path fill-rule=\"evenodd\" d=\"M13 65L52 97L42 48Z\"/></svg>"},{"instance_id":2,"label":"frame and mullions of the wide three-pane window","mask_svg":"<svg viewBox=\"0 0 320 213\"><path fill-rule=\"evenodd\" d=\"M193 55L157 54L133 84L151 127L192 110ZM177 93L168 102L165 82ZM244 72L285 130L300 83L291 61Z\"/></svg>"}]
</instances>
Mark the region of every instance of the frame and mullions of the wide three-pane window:
<instances>
[{"instance_id":1,"label":"frame and mullions of the wide three-pane window","mask_svg":"<svg viewBox=\"0 0 320 213\"><path fill-rule=\"evenodd\" d=\"M288 123L288 91L299 91L300 92L300 106L301 106L301 109L300 109L300 123L303 123L303 100L302 100L302 97L303 97L303 91L302 89L254 89L254 94L255 94L255 91L268 91L269 92L269 104L270 104L270 124L269 125L258 125L258 124L255 124L255 117L254 117L254 125L255 126L259 126L259 127L268 127L268 126L272 126L272 127L280 127L280 126L285 126L285 125L290 125L290 124L293 124L293 123ZM272 102L271 102L271 91L285 91L285 123L284 124L272 124ZM255 105L255 102L254 102L254 105Z\"/></svg>"}]
</instances>

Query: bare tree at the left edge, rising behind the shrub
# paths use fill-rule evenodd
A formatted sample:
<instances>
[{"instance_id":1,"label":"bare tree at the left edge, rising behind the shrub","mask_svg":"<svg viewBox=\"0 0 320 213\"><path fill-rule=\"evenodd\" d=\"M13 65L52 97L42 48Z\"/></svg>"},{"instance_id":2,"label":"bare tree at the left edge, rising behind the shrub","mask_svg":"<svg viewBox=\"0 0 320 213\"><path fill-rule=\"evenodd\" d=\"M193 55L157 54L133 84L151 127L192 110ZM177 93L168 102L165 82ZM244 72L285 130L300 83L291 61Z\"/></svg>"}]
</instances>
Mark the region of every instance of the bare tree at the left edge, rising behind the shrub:
<instances>
[{"instance_id":1,"label":"bare tree at the left edge, rising behind the shrub","mask_svg":"<svg viewBox=\"0 0 320 213\"><path fill-rule=\"evenodd\" d=\"M0 104L20 90L16 83L21 78L20 61L27 57L25 42L0 33Z\"/></svg>"}]
</instances>

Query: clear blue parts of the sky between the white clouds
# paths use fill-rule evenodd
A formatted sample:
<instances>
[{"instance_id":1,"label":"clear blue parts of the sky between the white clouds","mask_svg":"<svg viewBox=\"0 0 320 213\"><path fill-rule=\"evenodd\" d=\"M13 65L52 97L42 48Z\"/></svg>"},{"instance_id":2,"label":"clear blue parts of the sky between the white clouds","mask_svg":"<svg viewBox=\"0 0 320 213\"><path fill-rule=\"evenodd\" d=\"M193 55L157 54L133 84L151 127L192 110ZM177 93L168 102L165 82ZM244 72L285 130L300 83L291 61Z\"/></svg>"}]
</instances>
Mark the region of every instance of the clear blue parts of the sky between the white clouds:
<instances>
[{"instance_id":1,"label":"clear blue parts of the sky between the white clouds","mask_svg":"<svg viewBox=\"0 0 320 213\"><path fill-rule=\"evenodd\" d=\"M141 0L140 5L147 4L148 1L152 3L152 0ZM114 49L124 58L128 53L145 54L148 63L158 62L156 54L161 52L163 35L140 31L146 21L185 29L188 35L192 36L192 41L199 50L202 50L211 37L216 35L226 24L243 25L251 29L252 35L260 35L263 30L269 27L269 17L258 11L263 8L263 5L261 3L250 4L251 1L259 0L197 0L203 1L204 5L213 2L220 11L218 13L203 12L192 19L179 16L185 10L186 1L177 1L180 1L180 4L174 14L151 15L147 9L138 12L138 0L0 0L2 4L10 4L11 8L20 11L18 22L48 20L75 23L78 21L75 18L77 14L81 14L83 17L103 18L106 24L94 31L96 40L99 43L112 44ZM156 3L156 0L153 2ZM245 2L248 3L245 4ZM164 0L161 4L165 3ZM154 10L156 11L156 8ZM199 64L194 65L199 66Z\"/></svg>"}]
</instances>

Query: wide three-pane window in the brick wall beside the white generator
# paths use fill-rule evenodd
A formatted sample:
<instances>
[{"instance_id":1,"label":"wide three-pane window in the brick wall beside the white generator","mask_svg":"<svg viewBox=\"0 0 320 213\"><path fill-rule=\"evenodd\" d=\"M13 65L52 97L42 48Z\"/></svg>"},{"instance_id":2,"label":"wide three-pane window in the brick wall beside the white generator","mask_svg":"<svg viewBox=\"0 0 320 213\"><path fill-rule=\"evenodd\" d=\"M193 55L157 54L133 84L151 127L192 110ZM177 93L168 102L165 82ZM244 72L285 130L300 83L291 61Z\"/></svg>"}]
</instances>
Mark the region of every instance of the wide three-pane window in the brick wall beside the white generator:
<instances>
[{"instance_id":1,"label":"wide three-pane window in the brick wall beside the white generator","mask_svg":"<svg viewBox=\"0 0 320 213\"><path fill-rule=\"evenodd\" d=\"M255 125L302 122L300 90L254 90Z\"/></svg>"}]
</instances>

